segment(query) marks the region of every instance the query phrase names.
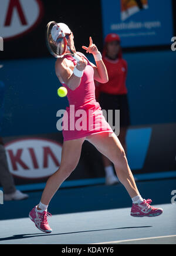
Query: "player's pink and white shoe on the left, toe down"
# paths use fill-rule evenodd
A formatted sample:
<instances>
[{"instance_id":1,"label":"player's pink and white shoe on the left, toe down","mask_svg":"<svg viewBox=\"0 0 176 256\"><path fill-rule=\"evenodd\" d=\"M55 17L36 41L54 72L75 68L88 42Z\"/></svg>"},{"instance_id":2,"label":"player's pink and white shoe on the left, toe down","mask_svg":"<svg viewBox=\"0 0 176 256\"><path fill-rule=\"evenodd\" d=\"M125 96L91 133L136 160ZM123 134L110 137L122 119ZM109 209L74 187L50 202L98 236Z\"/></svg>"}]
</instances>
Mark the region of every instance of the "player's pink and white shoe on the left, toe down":
<instances>
[{"instance_id":1,"label":"player's pink and white shoe on the left, toe down","mask_svg":"<svg viewBox=\"0 0 176 256\"><path fill-rule=\"evenodd\" d=\"M33 221L38 229L40 231L43 231L45 233L52 232L52 229L49 227L48 224L48 216L52 216L47 211L39 212L37 211L37 205L32 209L31 212L29 212L29 218L31 221Z\"/></svg>"}]
</instances>

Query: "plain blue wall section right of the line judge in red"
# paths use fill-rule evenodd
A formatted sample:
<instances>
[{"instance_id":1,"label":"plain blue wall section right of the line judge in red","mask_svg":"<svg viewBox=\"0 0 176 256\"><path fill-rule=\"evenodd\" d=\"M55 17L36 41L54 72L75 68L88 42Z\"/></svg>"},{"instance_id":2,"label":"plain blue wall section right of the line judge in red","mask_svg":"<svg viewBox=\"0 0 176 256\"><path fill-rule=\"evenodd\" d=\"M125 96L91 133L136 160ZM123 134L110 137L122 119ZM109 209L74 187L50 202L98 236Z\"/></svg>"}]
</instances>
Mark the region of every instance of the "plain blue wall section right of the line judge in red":
<instances>
[{"instance_id":1,"label":"plain blue wall section right of the line judge in red","mask_svg":"<svg viewBox=\"0 0 176 256\"><path fill-rule=\"evenodd\" d=\"M131 123L155 124L176 121L176 52L124 54L128 62L128 97Z\"/></svg>"}]
</instances>

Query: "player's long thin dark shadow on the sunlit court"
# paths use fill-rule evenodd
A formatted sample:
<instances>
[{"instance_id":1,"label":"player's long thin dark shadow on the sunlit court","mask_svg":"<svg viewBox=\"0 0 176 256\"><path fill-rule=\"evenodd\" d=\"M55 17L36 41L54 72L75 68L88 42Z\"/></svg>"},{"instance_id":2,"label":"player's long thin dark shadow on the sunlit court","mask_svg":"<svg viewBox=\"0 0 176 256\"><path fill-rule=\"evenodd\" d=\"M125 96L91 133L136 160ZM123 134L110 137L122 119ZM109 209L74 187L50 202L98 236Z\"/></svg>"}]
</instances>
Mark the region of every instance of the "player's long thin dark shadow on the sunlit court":
<instances>
[{"instance_id":1,"label":"player's long thin dark shadow on the sunlit court","mask_svg":"<svg viewBox=\"0 0 176 256\"><path fill-rule=\"evenodd\" d=\"M32 237L46 237L46 236L55 236L55 235L70 235L70 234L77 234L77 233L84 233L84 232L96 232L96 231L111 231L116 229L132 229L132 228L151 228L152 226L142 226L142 227L123 227L123 228L106 228L106 229L95 229L95 230L85 230L85 231L76 231L76 232L67 232L67 233L59 233L59 234L19 234L19 235L12 235L12 237L5 237L0 238L1 241L8 241L8 240L15 240L15 239L23 239L23 238L32 238Z\"/></svg>"}]
</instances>

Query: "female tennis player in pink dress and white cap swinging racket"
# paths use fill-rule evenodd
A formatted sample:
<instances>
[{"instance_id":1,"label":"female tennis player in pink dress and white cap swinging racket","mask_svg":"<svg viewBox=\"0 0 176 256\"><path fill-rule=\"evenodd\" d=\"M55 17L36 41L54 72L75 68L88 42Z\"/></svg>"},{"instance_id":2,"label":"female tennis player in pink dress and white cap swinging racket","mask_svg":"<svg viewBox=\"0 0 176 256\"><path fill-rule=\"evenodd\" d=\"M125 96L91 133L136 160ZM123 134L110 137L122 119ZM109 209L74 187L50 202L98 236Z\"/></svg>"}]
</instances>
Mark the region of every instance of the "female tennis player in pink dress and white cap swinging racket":
<instances>
[{"instance_id":1,"label":"female tennis player in pink dress and white cap swinging racket","mask_svg":"<svg viewBox=\"0 0 176 256\"><path fill-rule=\"evenodd\" d=\"M67 88L67 97L70 106L75 106L75 110L84 110L88 114L88 120L92 119L93 123L87 129L63 129L63 148L62 159L59 169L53 173L48 179L45 189L42 193L39 205L36 205L29 213L29 218L38 229L43 232L50 233L52 229L48 224L47 211L50 200L59 189L62 182L69 177L70 173L76 168L80 159L80 153L84 140L92 143L99 152L106 156L114 164L117 176L120 182L126 188L128 194L132 199L131 216L158 216L162 214L163 209L154 208L150 206L150 199L143 199L137 189L133 174L128 166L126 154L120 144L116 134L113 133L111 127L103 117L99 103L95 99L95 86L94 80L100 83L108 81L107 70L102 61L101 54L97 50L96 45L93 44L90 37L89 47L83 46L86 52L93 54L96 65L90 63L89 60L80 52L76 52L75 44L73 41L73 33L70 31L66 24L62 25L62 31L67 38L68 50L69 49L79 55L81 60L75 61L72 55L65 55L63 58L58 58L56 61L56 76L59 81ZM56 34L57 31L55 31ZM69 113L70 109L67 108L65 113ZM90 111L91 110L91 111ZM66 114L63 120L68 117ZM78 117L77 117L78 118ZM76 122L75 117L75 122ZM73 120L68 120L71 123Z\"/></svg>"}]
</instances>

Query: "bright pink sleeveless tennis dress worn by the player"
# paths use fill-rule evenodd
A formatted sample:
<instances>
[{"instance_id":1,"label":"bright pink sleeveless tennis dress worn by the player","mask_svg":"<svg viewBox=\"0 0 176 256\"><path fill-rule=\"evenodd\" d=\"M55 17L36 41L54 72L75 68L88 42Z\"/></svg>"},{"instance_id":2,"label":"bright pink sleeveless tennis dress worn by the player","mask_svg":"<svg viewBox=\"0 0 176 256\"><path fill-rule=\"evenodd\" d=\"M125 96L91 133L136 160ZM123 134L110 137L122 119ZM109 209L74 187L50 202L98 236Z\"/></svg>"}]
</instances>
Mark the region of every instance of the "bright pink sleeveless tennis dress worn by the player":
<instances>
[{"instance_id":1,"label":"bright pink sleeveless tennis dress worn by the player","mask_svg":"<svg viewBox=\"0 0 176 256\"><path fill-rule=\"evenodd\" d=\"M79 52L79 55L82 54ZM76 65L75 58L72 56L66 56L66 58ZM76 90L70 90L66 84L63 84L67 88L67 99L69 100L69 107L66 107L63 115L62 133L64 141L87 137L95 133L113 133L103 116L100 104L96 101L94 70L89 60L87 61L88 64L84 70L80 86Z\"/></svg>"}]
</instances>

